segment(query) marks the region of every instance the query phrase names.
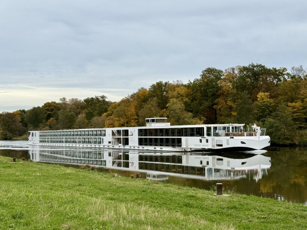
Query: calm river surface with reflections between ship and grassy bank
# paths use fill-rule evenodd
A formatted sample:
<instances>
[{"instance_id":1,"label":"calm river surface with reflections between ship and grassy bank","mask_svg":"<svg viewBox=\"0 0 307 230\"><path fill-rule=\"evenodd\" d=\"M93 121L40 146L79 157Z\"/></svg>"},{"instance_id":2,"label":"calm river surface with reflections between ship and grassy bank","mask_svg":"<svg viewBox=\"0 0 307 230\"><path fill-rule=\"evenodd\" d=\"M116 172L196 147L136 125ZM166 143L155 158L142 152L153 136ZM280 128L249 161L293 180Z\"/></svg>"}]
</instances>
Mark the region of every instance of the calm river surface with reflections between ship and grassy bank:
<instances>
[{"instance_id":1,"label":"calm river surface with reflections between ship and grassy bank","mask_svg":"<svg viewBox=\"0 0 307 230\"><path fill-rule=\"evenodd\" d=\"M27 141L0 140L0 155L73 167L89 164L128 177L139 172L142 178L207 190L223 183L227 190L241 194L307 205L306 148L190 154L39 147L29 146Z\"/></svg>"}]
</instances>

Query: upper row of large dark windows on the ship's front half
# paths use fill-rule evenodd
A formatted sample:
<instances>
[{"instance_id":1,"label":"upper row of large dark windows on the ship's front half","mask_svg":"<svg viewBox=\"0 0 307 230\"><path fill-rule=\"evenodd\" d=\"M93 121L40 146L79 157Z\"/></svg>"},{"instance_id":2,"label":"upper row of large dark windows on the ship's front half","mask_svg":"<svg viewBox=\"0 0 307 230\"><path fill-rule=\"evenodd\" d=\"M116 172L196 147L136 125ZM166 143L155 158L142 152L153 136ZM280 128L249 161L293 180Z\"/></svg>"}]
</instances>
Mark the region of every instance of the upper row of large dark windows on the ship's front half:
<instances>
[{"instance_id":1,"label":"upper row of large dark windows on the ship's front half","mask_svg":"<svg viewBox=\"0 0 307 230\"><path fill-rule=\"evenodd\" d=\"M204 136L204 127L198 128L140 128L138 136Z\"/></svg>"}]
</instances>

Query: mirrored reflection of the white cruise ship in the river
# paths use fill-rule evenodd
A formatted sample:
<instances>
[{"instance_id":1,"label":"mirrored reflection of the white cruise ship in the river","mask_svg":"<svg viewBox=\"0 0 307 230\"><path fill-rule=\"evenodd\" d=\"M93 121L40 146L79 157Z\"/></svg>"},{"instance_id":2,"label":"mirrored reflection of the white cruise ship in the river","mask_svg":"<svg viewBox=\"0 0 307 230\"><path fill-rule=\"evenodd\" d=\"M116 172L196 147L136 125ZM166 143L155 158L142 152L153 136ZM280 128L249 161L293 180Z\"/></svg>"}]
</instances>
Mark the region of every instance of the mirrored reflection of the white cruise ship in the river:
<instances>
[{"instance_id":1,"label":"mirrored reflection of the white cruise ship in the river","mask_svg":"<svg viewBox=\"0 0 307 230\"><path fill-rule=\"evenodd\" d=\"M237 180L258 182L271 166L264 155L231 153L199 155L172 152L137 152L113 150L30 150L33 161L62 164L89 164L106 169L138 171L147 179L167 180L170 176L197 180ZM128 174L126 174L128 175Z\"/></svg>"}]
</instances>

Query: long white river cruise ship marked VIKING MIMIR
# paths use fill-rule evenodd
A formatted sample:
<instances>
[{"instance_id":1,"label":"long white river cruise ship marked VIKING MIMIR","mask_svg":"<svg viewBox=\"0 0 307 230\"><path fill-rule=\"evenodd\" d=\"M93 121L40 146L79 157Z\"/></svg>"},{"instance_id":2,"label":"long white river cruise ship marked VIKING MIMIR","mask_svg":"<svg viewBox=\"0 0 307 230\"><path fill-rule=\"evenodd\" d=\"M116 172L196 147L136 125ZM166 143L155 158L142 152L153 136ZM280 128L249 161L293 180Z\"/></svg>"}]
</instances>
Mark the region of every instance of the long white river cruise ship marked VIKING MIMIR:
<instances>
[{"instance_id":1,"label":"long white river cruise ship marked VIKING MIMIR","mask_svg":"<svg viewBox=\"0 0 307 230\"><path fill-rule=\"evenodd\" d=\"M165 117L146 118L144 127L29 131L29 144L153 151L229 152L270 146L266 129L244 124L170 125Z\"/></svg>"}]
</instances>

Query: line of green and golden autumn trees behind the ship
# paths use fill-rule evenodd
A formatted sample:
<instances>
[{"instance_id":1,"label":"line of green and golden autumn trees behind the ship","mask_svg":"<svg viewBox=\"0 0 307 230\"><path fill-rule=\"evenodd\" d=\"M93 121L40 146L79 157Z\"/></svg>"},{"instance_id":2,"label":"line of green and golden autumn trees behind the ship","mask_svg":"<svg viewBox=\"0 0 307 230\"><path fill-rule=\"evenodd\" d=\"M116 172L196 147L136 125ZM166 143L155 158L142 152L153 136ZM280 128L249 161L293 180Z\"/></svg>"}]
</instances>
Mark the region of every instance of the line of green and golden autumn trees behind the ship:
<instances>
[{"instance_id":1,"label":"line of green and golden autumn trees behind the ship","mask_svg":"<svg viewBox=\"0 0 307 230\"><path fill-rule=\"evenodd\" d=\"M256 123L273 143L307 144L307 71L302 66L262 64L225 71L206 68L184 84L156 82L119 102L106 96L60 98L29 110L0 115L0 139L27 130L143 126L145 118L168 117L172 125Z\"/></svg>"}]
</instances>

